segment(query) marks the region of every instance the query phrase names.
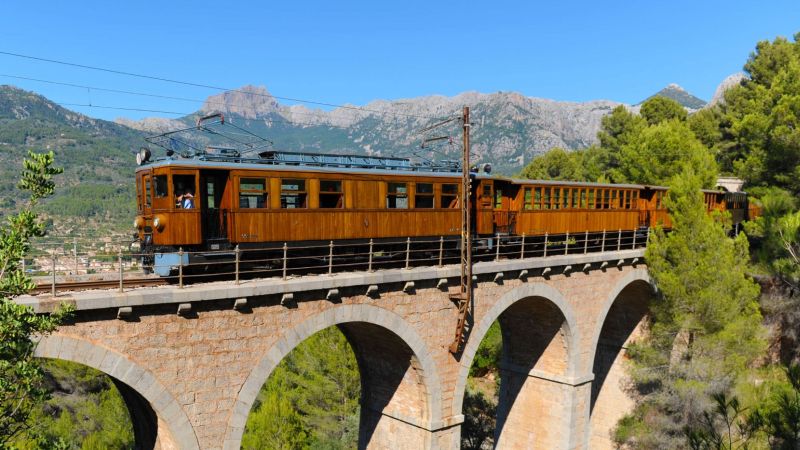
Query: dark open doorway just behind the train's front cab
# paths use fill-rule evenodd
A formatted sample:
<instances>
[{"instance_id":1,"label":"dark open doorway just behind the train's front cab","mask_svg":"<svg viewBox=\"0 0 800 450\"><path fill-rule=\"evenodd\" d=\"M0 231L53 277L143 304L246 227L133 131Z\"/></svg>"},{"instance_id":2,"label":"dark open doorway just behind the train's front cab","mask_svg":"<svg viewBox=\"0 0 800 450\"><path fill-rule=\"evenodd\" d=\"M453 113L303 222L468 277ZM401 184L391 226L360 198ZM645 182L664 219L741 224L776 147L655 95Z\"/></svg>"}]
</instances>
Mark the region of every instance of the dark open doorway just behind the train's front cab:
<instances>
[{"instance_id":1,"label":"dark open doorway just behind the train's front cab","mask_svg":"<svg viewBox=\"0 0 800 450\"><path fill-rule=\"evenodd\" d=\"M200 208L203 240L211 250L228 243L228 209L225 189L228 172L204 170L200 173Z\"/></svg>"}]
</instances>

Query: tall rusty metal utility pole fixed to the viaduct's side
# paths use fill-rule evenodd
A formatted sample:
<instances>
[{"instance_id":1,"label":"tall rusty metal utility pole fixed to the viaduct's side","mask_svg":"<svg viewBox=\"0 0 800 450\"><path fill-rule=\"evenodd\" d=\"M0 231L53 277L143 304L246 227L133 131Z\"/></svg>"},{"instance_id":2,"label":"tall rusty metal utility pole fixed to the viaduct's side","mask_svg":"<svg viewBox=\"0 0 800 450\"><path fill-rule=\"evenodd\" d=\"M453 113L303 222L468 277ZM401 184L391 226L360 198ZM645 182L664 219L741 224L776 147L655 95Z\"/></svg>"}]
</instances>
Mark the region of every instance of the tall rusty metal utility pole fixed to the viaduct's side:
<instances>
[{"instance_id":1,"label":"tall rusty metal utility pole fixed to the viaduct's side","mask_svg":"<svg viewBox=\"0 0 800 450\"><path fill-rule=\"evenodd\" d=\"M464 150L461 161L461 289L458 294L451 295L458 304L458 323L450 353L461 351L464 339L464 328L467 323L467 312L472 304L472 218L470 212L470 164L469 164L469 106L464 107L462 116L464 130Z\"/></svg>"}]
</instances>

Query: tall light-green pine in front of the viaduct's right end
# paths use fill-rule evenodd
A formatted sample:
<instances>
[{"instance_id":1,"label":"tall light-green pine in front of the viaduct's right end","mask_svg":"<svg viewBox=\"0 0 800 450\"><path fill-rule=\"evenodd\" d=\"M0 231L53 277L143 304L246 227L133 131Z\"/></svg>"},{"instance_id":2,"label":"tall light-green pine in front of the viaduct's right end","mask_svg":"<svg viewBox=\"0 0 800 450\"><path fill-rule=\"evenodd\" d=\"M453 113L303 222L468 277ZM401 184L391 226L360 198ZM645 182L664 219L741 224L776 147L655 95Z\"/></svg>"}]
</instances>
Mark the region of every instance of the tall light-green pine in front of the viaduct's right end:
<instances>
[{"instance_id":1,"label":"tall light-green pine in front of the viaduct's right end","mask_svg":"<svg viewBox=\"0 0 800 450\"><path fill-rule=\"evenodd\" d=\"M640 395L616 433L633 448L683 446L709 395L735 393L764 349L747 240L728 237L726 215L707 214L701 186L693 167L670 183L672 231L657 230L645 255L658 299L649 336L630 348Z\"/></svg>"}]
</instances>

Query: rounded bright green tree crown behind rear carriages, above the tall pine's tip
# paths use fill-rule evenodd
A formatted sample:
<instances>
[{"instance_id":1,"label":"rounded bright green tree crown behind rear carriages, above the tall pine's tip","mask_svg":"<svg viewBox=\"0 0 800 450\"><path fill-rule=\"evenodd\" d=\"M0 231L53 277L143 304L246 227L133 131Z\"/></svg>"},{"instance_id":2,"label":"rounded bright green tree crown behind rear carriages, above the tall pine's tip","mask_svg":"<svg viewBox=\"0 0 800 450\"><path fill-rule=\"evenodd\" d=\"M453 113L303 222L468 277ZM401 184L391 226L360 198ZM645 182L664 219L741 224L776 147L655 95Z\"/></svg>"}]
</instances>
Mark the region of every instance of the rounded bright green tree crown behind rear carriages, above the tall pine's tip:
<instances>
[{"instance_id":1,"label":"rounded bright green tree crown behind rear carriages, above the tall pine's tip","mask_svg":"<svg viewBox=\"0 0 800 450\"><path fill-rule=\"evenodd\" d=\"M701 186L713 187L717 168L709 150L685 122L668 120L643 129L622 146L617 182L667 185L684 167L693 167Z\"/></svg>"}]
</instances>

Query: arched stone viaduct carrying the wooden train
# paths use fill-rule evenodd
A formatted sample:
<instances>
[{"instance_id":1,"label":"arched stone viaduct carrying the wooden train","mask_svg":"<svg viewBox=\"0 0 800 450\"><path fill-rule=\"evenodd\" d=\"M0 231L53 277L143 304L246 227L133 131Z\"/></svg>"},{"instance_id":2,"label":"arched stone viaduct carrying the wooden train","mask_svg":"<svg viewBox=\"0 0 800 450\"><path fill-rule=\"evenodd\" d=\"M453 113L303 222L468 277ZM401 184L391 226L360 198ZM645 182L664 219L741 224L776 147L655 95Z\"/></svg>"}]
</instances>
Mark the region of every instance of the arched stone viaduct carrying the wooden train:
<instances>
[{"instance_id":1,"label":"arched stone viaduct carrying the wooden train","mask_svg":"<svg viewBox=\"0 0 800 450\"><path fill-rule=\"evenodd\" d=\"M499 448L609 448L631 402L626 343L652 296L643 249L475 265L467 342L448 352L459 268L214 282L19 298L75 305L37 355L99 369L120 388L137 447L238 449L259 389L300 342L338 326L362 383L361 448L457 449L467 375L499 320Z\"/></svg>"}]
</instances>

